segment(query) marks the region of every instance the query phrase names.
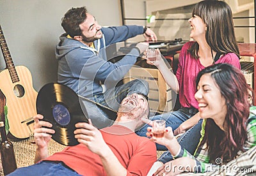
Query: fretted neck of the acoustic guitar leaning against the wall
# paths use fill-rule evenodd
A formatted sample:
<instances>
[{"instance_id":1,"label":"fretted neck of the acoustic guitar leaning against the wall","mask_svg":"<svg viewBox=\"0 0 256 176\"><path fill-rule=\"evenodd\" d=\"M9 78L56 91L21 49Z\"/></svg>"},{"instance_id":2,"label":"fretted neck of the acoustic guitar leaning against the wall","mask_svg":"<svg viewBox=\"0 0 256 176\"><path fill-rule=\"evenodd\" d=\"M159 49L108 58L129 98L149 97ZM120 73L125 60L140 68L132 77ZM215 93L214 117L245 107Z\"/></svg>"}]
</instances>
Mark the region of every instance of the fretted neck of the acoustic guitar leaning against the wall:
<instances>
[{"instance_id":1,"label":"fretted neck of the acoustic guitar leaning against the wall","mask_svg":"<svg viewBox=\"0 0 256 176\"><path fill-rule=\"evenodd\" d=\"M10 77L12 78L12 82L13 83L19 82L19 77L17 75L17 71L13 64L10 51L7 47L7 43L4 39L4 34L3 34L1 26L0 26L0 45L1 45L1 50L2 50L3 56L4 56L4 62L6 64L6 68L9 70Z\"/></svg>"}]
</instances>

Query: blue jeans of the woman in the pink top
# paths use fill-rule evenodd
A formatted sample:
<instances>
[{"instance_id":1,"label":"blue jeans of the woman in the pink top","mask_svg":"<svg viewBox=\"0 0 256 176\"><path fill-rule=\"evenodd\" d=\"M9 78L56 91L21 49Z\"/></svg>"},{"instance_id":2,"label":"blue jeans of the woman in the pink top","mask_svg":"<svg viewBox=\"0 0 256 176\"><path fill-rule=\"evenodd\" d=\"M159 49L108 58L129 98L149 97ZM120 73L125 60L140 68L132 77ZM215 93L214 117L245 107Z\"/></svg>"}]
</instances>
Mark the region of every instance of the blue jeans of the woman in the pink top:
<instances>
[{"instance_id":1,"label":"blue jeans of the woman in the pink top","mask_svg":"<svg viewBox=\"0 0 256 176\"><path fill-rule=\"evenodd\" d=\"M196 109L191 108L191 110L188 110L188 108L180 108L177 111L156 115L156 116L150 117L149 119L152 121L157 119L164 119L166 121L166 127L170 126L174 131L180 126L180 124L188 120L190 117L192 117L196 113L197 113ZM147 133L147 128L149 126L150 125L145 124L145 126L143 126L141 129L136 131L136 134L139 136L147 136L146 133ZM165 146L159 145L158 143L156 143L156 147L157 147L157 150L167 150Z\"/></svg>"}]
</instances>

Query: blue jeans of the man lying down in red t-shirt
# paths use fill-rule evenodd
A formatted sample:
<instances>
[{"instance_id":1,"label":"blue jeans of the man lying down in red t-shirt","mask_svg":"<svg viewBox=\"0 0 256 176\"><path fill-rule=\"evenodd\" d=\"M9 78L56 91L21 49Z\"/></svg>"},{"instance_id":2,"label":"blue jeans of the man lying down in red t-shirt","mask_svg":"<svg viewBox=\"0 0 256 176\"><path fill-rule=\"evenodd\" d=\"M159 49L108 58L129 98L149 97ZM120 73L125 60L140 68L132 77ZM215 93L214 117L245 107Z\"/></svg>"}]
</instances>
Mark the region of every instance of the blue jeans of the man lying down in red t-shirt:
<instances>
[{"instance_id":1,"label":"blue jeans of the man lying down in red t-shirt","mask_svg":"<svg viewBox=\"0 0 256 176\"><path fill-rule=\"evenodd\" d=\"M74 170L67 168L67 166L63 165L63 163L54 163L51 161L41 161L36 163L35 165L31 165L28 167L17 168L14 172L8 174L10 176L13 175L24 175L24 176L34 176L34 175L79 175Z\"/></svg>"}]
</instances>

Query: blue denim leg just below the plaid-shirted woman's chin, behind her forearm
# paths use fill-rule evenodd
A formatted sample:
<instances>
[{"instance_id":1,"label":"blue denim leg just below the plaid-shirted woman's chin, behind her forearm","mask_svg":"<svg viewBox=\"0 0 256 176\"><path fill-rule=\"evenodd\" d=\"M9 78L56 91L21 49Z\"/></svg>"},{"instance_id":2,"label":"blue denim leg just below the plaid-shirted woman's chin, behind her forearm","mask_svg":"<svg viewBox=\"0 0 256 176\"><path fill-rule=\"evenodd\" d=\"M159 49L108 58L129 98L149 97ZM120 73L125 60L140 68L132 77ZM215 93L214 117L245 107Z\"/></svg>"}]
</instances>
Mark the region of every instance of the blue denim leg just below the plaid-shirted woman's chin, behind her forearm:
<instances>
[{"instance_id":1,"label":"blue denim leg just below the plaid-shirted woman's chin, behind her forearm","mask_svg":"<svg viewBox=\"0 0 256 176\"><path fill-rule=\"evenodd\" d=\"M201 138L201 128L202 119L197 124L195 124L195 126L190 128L188 131L186 131L186 133L184 133L182 136L178 138L180 146L186 149L190 154L194 154L196 147L198 146L199 140ZM169 151L167 151L160 156L158 161L161 161L162 163L167 163L172 159L172 154Z\"/></svg>"}]
</instances>

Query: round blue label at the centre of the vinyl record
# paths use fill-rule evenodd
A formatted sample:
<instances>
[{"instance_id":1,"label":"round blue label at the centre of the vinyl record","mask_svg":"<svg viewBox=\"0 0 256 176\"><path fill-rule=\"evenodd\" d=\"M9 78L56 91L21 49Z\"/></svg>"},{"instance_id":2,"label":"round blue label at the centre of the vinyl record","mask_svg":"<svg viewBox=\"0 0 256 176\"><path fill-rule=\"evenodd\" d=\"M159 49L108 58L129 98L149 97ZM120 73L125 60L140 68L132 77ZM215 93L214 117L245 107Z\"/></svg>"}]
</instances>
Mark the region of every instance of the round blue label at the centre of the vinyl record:
<instances>
[{"instance_id":1,"label":"round blue label at the centre of the vinyl record","mask_svg":"<svg viewBox=\"0 0 256 176\"><path fill-rule=\"evenodd\" d=\"M52 108L52 115L58 124L66 126L70 122L70 114L67 108L63 105L57 104Z\"/></svg>"}]
</instances>

